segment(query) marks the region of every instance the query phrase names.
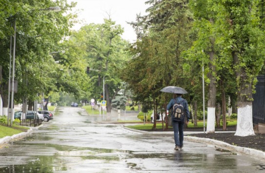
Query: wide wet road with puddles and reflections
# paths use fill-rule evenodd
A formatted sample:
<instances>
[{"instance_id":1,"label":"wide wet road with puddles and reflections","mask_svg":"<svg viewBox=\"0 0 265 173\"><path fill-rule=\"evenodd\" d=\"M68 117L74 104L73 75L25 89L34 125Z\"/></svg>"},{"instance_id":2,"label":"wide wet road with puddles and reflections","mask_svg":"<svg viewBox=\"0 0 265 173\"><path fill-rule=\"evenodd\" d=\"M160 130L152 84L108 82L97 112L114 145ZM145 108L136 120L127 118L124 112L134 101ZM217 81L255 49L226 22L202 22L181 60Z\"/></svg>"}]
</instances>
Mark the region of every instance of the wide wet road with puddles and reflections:
<instances>
[{"instance_id":1,"label":"wide wet road with puddles and reflections","mask_svg":"<svg viewBox=\"0 0 265 173\"><path fill-rule=\"evenodd\" d=\"M58 108L54 120L0 149L0 173L258 173L265 161L173 136L100 124L82 108Z\"/></svg>"}]
</instances>

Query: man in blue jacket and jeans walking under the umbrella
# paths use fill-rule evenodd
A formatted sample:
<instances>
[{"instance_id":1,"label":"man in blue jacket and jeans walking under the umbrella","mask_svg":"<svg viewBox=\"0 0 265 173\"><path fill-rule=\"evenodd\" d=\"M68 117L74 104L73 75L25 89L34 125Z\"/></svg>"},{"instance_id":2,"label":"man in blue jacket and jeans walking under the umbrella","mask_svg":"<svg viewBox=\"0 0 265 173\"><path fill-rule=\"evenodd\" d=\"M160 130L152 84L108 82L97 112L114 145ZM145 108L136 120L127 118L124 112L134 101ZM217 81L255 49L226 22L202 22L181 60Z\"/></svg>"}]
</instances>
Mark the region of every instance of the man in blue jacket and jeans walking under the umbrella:
<instances>
[{"instance_id":1,"label":"man in blue jacket and jeans walking under the umbrella","mask_svg":"<svg viewBox=\"0 0 265 173\"><path fill-rule=\"evenodd\" d=\"M188 124L189 123L189 109L188 109L188 103L185 99L182 98L182 94L174 94L174 98L170 100L168 103L166 109L170 110L173 108L173 106L176 103L180 103L183 108L183 115L187 117L186 122L184 122L185 118L182 120L176 120L173 118L173 110L171 110L171 119L172 119L172 126L174 130L174 140L175 140L175 149L174 150L179 150L183 148L183 138L184 138L184 133L183 133L183 128L184 128L184 123ZM175 106L176 107L176 106Z\"/></svg>"}]
</instances>

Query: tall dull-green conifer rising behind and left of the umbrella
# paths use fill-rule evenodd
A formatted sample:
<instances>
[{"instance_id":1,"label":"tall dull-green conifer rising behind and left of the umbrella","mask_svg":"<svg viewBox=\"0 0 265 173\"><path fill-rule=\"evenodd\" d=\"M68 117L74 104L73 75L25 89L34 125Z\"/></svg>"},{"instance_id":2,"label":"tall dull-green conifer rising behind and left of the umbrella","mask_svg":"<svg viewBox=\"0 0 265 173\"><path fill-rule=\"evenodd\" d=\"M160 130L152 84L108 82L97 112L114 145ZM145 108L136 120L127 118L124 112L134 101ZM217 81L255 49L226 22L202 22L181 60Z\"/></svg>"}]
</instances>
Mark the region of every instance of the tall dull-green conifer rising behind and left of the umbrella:
<instances>
[{"instance_id":1,"label":"tall dull-green conifer rising behind and left of the umbrella","mask_svg":"<svg viewBox=\"0 0 265 173\"><path fill-rule=\"evenodd\" d=\"M149 14L137 16L137 22L131 23L139 37L132 46L132 53L137 56L124 68L122 79L128 82L139 101L152 98L156 116L157 100L160 107L168 102L161 99L160 90L169 85L186 86L180 82L184 81L181 52L190 46L187 30L192 21L187 0L149 0L146 3L151 5L146 10ZM153 129L156 129L156 121Z\"/></svg>"}]
</instances>

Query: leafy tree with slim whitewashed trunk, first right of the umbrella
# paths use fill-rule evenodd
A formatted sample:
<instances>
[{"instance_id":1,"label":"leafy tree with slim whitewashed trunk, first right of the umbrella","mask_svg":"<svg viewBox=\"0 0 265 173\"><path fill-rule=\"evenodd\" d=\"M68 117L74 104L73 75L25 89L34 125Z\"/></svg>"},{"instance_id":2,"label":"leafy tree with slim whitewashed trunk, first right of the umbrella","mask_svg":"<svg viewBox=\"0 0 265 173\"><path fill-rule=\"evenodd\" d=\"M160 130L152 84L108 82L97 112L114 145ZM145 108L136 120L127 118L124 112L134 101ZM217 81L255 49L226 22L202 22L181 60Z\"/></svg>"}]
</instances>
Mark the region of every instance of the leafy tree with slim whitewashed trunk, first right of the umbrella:
<instances>
[{"instance_id":1,"label":"leafy tree with slim whitewashed trunk, first right of the umbrella","mask_svg":"<svg viewBox=\"0 0 265 173\"><path fill-rule=\"evenodd\" d=\"M218 56L220 56L218 3L215 0L191 0L190 6L196 20L194 27L198 29L198 38L194 42L197 51L204 51L207 56L202 61L207 64L208 102L207 102L207 133L215 131L216 95ZM202 64L203 64L202 63Z\"/></svg>"}]
</instances>

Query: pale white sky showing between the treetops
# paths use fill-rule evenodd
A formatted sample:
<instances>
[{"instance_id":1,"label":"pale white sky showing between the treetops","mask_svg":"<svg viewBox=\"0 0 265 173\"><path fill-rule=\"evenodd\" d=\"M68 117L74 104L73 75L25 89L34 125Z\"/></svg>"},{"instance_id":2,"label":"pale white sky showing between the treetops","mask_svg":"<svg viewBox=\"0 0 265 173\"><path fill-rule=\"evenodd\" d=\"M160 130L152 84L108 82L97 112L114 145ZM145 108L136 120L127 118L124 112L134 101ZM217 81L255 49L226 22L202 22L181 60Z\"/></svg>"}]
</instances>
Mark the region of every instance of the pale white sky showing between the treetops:
<instances>
[{"instance_id":1,"label":"pale white sky showing between the treetops","mask_svg":"<svg viewBox=\"0 0 265 173\"><path fill-rule=\"evenodd\" d=\"M110 18L124 29L122 38L133 42L136 34L131 25L126 22L135 22L136 14L145 15L148 5L146 0L67 0L77 2L73 11L78 10L78 19L82 23L76 24L73 29L78 30L82 25L89 23L103 23L103 19Z\"/></svg>"}]
</instances>

